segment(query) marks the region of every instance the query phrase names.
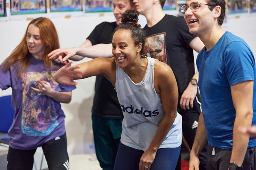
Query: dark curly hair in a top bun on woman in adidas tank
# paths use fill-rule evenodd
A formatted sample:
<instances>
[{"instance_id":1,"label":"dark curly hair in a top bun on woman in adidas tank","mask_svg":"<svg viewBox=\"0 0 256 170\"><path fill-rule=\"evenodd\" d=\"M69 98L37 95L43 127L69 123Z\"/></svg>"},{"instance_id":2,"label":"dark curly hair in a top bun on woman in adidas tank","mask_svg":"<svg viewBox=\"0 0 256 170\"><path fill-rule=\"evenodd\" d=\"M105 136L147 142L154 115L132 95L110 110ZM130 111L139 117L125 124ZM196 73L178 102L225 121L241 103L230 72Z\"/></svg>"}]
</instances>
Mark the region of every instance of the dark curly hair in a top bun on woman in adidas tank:
<instances>
[{"instance_id":1,"label":"dark curly hair in a top bun on woman in adidas tank","mask_svg":"<svg viewBox=\"0 0 256 170\"><path fill-rule=\"evenodd\" d=\"M144 48L145 48L146 33L138 23L139 14L140 14L139 11L137 11L136 9L126 10L125 13L122 14L122 20L121 20L122 24L116 27L116 29L113 32L113 35L119 29L130 30L131 37L134 40L134 44L138 45L140 42L142 43L140 54L143 54ZM112 35L112 38L113 38L113 35Z\"/></svg>"}]
</instances>

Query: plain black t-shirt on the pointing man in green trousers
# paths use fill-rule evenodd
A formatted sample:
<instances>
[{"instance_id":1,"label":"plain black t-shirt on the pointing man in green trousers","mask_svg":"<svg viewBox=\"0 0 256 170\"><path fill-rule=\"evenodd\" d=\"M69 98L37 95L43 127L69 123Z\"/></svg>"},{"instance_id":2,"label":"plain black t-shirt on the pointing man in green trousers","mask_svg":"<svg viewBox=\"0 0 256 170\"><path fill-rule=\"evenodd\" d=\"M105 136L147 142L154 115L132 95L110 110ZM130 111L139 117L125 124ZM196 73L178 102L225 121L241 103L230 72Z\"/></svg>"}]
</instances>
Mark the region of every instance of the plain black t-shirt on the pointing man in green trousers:
<instances>
[{"instance_id":1,"label":"plain black t-shirt on the pointing man in green trousers","mask_svg":"<svg viewBox=\"0 0 256 170\"><path fill-rule=\"evenodd\" d=\"M116 27L116 22L100 23L94 28L87 39L93 45L100 43L109 44L112 41L112 34ZM103 75L96 76L92 113L103 118L123 118L114 86Z\"/></svg>"}]
</instances>

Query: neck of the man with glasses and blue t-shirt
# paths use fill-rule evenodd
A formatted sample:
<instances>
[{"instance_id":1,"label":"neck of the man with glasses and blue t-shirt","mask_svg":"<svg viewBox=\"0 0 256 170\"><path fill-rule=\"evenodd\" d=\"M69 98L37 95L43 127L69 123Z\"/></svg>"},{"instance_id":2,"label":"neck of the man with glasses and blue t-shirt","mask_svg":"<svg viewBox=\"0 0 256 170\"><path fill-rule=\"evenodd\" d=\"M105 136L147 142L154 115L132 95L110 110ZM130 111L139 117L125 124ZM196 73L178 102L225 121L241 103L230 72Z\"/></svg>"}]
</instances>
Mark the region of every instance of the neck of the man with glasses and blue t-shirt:
<instances>
[{"instance_id":1,"label":"neck of the man with glasses and blue t-shirt","mask_svg":"<svg viewBox=\"0 0 256 170\"><path fill-rule=\"evenodd\" d=\"M225 31L221 28L221 26L218 26L210 29L207 34L198 35L198 37L204 43L206 51L209 51L223 36L223 34L225 34Z\"/></svg>"}]
</instances>

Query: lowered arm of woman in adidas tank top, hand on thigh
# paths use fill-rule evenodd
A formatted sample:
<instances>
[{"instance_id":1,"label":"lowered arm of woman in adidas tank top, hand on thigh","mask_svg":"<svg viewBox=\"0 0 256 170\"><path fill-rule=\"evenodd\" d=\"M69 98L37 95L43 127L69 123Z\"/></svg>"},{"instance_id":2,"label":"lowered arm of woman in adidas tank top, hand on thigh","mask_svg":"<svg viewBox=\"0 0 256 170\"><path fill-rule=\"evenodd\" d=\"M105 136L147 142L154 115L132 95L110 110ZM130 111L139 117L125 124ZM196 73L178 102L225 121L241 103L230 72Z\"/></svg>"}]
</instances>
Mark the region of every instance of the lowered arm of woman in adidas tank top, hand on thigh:
<instances>
[{"instance_id":1,"label":"lowered arm of woman in adidas tank top, hand on thigh","mask_svg":"<svg viewBox=\"0 0 256 170\"><path fill-rule=\"evenodd\" d=\"M140 170L150 170L157 150L166 138L177 116L178 88L172 69L158 60L155 61L154 66L154 87L156 92L160 94L165 116L151 144L140 159ZM145 168L145 166L148 168Z\"/></svg>"}]
</instances>

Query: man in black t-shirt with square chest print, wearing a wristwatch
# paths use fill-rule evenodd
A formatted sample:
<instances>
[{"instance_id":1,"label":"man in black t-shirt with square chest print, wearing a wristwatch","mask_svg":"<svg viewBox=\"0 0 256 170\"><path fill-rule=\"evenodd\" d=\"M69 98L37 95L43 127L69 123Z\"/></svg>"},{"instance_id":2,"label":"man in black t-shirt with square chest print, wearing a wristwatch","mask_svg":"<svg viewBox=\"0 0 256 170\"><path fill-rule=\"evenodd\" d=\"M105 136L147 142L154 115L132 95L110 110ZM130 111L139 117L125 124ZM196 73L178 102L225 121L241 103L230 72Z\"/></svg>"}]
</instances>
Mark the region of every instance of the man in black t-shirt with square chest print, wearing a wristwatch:
<instances>
[{"instance_id":1,"label":"man in black t-shirt with square chest print, wearing a wristwatch","mask_svg":"<svg viewBox=\"0 0 256 170\"><path fill-rule=\"evenodd\" d=\"M166 0L134 0L134 8L147 19L143 28L146 32L146 56L156 58L168 64L175 75L179 104L177 111L182 116L183 136L192 148L201 113L201 98L198 93L198 71L195 73L193 49L201 51L204 44L189 33L184 17L175 17L163 13ZM206 169L206 146L202 150L200 170ZM180 163L177 168L180 169Z\"/></svg>"}]
</instances>

